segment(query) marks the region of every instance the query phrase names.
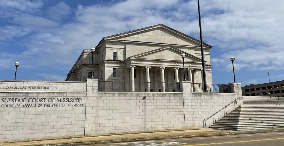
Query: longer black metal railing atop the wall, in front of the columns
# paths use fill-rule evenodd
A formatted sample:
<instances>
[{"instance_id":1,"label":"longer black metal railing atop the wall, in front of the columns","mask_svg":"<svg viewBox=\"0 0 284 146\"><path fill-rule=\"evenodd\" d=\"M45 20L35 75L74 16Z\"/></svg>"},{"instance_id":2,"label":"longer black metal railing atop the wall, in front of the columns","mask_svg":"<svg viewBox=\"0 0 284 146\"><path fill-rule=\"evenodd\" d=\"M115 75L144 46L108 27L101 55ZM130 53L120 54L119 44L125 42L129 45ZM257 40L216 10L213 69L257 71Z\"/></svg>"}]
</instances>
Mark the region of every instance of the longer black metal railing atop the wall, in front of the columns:
<instances>
[{"instance_id":1,"label":"longer black metal railing atop the wall, in front of the columns","mask_svg":"<svg viewBox=\"0 0 284 146\"><path fill-rule=\"evenodd\" d=\"M99 81L98 91L111 92L180 92L179 83Z\"/></svg>"}]
</instances>

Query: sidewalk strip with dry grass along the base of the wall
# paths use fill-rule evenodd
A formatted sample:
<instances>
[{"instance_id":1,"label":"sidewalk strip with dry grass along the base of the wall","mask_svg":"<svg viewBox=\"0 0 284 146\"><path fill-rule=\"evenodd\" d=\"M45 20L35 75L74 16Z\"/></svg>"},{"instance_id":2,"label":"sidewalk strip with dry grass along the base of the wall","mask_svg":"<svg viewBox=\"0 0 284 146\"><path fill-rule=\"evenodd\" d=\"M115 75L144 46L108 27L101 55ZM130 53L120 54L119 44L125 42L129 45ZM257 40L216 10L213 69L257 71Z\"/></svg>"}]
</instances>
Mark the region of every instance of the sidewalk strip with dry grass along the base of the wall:
<instances>
[{"instance_id":1,"label":"sidewalk strip with dry grass along the base of the wall","mask_svg":"<svg viewBox=\"0 0 284 146\"><path fill-rule=\"evenodd\" d=\"M189 128L193 129L193 128ZM178 129L177 129L178 130ZM109 134L104 136L91 136L91 137L77 137L77 138L62 138L62 139L34 139L22 140L21 142L0 142L0 146L65 146L65 145L89 145L98 143L112 143L112 142L130 142L141 140L157 140L157 139L172 139L172 138L189 138L189 137L206 137L206 136L219 136L219 135L233 135L233 134L251 134L251 133L265 133L265 132L284 132L284 128L275 129L261 129L261 130L242 130L242 131L230 131L212 128L202 128L196 130L169 130L167 132L148 132L148 133L120 133Z\"/></svg>"}]
</instances>

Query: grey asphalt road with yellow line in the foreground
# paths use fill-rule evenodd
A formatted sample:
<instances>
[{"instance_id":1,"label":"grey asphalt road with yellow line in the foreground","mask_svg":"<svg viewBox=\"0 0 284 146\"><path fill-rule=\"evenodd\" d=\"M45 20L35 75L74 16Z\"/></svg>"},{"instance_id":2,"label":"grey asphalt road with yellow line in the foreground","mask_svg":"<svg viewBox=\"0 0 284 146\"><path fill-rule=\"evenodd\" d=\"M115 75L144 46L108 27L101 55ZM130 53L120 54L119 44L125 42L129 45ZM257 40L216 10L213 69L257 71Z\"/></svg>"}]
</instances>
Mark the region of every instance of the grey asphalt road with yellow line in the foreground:
<instances>
[{"instance_id":1,"label":"grey asphalt road with yellow line in the foreground","mask_svg":"<svg viewBox=\"0 0 284 146\"><path fill-rule=\"evenodd\" d=\"M99 144L96 146L284 146L284 132L241 134L215 137L162 139ZM88 145L91 146L91 145ZM92 145L93 146L93 145Z\"/></svg>"}]
</instances>

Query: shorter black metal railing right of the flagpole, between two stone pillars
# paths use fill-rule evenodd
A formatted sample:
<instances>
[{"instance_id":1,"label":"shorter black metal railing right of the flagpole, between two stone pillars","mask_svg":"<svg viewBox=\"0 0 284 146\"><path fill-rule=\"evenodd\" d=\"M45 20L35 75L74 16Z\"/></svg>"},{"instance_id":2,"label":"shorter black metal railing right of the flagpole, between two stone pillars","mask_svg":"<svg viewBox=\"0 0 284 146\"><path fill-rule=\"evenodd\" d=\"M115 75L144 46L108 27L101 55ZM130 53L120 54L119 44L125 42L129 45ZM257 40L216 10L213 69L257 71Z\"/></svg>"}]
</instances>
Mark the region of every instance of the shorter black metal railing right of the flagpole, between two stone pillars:
<instances>
[{"instance_id":1,"label":"shorter black metal railing right of the flagpole, between two stone pillars","mask_svg":"<svg viewBox=\"0 0 284 146\"><path fill-rule=\"evenodd\" d=\"M193 92L202 93L204 91L204 84L192 83ZM230 84L206 84L207 93L232 93Z\"/></svg>"}]
</instances>

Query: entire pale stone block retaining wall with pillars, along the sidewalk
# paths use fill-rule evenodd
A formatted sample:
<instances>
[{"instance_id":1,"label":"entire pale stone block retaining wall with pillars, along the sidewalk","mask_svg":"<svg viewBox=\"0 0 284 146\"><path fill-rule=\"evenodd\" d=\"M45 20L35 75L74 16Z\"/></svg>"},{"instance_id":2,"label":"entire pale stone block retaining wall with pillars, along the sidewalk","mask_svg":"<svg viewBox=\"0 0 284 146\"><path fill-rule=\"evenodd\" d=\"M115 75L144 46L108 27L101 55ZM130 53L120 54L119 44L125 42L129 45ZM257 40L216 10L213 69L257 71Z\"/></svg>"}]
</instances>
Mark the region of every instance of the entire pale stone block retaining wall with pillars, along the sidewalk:
<instances>
[{"instance_id":1,"label":"entire pale stone block retaining wall with pillars, along the sidewalk","mask_svg":"<svg viewBox=\"0 0 284 146\"><path fill-rule=\"evenodd\" d=\"M98 79L1 81L0 140L202 128L204 119L241 97L240 84L232 84L234 93L193 93L191 82L178 84L176 93L99 92Z\"/></svg>"}]
</instances>

